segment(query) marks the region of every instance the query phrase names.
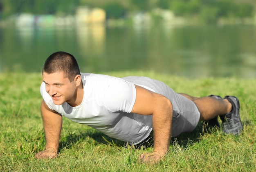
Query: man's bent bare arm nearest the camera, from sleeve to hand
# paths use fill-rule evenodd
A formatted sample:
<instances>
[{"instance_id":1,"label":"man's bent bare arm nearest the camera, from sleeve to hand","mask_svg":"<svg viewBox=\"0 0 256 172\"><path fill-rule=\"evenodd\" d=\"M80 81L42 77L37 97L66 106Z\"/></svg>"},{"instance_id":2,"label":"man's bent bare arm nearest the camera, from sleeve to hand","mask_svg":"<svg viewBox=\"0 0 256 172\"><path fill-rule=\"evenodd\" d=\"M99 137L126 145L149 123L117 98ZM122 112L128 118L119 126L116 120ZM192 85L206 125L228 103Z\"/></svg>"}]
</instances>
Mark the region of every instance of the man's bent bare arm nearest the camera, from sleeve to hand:
<instances>
[{"instance_id":1,"label":"man's bent bare arm nearest the camera, from sleeve to hand","mask_svg":"<svg viewBox=\"0 0 256 172\"><path fill-rule=\"evenodd\" d=\"M135 85L136 100L132 113L153 115L154 151L140 155L144 162L156 162L167 152L171 142L173 107L168 98Z\"/></svg>"}]
</instances>

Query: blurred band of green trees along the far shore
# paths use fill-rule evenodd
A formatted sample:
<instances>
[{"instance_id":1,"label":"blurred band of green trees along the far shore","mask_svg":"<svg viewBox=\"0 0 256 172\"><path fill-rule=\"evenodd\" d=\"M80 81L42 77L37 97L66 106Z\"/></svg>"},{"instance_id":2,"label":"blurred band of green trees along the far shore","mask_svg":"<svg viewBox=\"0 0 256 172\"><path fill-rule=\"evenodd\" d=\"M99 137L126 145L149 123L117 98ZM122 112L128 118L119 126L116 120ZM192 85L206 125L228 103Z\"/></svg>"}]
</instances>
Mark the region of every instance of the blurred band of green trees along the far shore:
<instances>
[{"instance_id":1,"label":"blurred band of green trees along the far shore","mask_svg":"<svg viewBox=\"0 0 256 172\"><path fill-rule=\"evenodd\" d=\"M81 5L103 8L108 18L123 17L127 11L162 8L210 23L220 17L252 17L256 10L256 0L0 0L0 18L19 13L69 15Z\"/></svg>"}]
</instances>

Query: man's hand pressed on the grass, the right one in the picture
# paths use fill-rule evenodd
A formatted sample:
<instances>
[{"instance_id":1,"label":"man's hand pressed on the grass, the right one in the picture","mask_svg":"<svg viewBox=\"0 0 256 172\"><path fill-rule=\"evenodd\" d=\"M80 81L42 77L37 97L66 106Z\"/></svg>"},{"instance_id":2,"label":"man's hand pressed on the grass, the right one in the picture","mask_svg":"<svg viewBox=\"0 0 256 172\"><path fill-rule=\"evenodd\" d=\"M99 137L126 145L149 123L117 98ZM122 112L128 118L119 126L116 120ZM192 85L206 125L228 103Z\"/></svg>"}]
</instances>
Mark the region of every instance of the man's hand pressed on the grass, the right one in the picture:
<instances>
[{"instance_id":1,"label":"man's hand pressed on the grass, the right one in the picture","mask_svg":"<svg viewBox=\"0 0 256 172\"><path fill-rule=\"evenodd\" d=\"M139 161L143 163L154 164L160 161L164 157L164 154L159 152L146 153L139 155Z\"/></svg>"}]
</instances>

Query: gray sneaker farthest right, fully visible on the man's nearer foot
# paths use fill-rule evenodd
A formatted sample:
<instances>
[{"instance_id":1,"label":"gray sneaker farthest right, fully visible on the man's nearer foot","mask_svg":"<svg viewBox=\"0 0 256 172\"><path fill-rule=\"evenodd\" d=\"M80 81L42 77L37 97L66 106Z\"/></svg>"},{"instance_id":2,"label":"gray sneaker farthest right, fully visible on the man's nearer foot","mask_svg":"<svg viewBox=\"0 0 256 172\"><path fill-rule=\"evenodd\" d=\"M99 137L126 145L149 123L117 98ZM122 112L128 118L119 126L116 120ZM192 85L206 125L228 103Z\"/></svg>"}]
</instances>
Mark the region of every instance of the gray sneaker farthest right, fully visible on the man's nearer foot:
<instances>
[{"instance_id":1,"label":"gray sneaker farthest right, fully visible on the man's nearer foot","mask_svg":"<svg viewBox=\"0 0 256 172\"><path fill-rule=\"evenodd\" d=\"M220 115L222 120L222 130L226 134L238 135L243 130L243 125L239 116L239 100L235 96L226 96L231 103L232 109L226 115Z\"/></svg>"}]
</instances>

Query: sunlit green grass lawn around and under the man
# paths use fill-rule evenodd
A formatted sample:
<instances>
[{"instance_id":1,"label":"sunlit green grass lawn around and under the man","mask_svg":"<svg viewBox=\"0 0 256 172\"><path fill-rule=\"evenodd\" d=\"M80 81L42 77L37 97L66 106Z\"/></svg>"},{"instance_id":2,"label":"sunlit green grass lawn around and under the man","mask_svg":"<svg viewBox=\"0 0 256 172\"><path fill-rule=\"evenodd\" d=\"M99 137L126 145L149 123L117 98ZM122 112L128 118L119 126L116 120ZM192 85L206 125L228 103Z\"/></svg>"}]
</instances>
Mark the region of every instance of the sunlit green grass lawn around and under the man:
<instances>
[{"instance_id":1,"label":"sunlit green grass lawn around and under the man","mask_svg":"<svg viewBox=\"0 0 256 172\"><path fill-rule=\"evenodd\" d=\"M0 74L0 171L256 171L256 79L189 79L154 72L113 72L114 76L149 76L192 96L235 95L244 130L239 136L202 130L173 138L168 155L155 165L139 163L141 152L94 129L63 119L57 159L37 160L45 138L40 115L41 74Z\"/></svg>"}]
</instances>

